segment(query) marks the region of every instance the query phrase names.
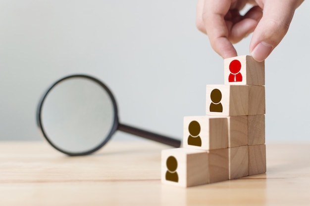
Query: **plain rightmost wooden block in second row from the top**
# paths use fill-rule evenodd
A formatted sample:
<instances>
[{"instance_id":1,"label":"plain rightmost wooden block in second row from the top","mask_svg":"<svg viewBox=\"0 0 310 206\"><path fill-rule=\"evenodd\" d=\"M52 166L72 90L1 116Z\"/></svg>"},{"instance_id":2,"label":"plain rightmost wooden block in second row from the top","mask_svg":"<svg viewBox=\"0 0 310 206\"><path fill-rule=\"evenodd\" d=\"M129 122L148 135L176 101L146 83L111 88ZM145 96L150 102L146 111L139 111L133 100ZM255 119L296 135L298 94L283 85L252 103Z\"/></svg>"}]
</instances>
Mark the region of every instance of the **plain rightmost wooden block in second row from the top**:
<instances>
[{"instance_id":1,"label":"plain rightmost wooden block in second row from the top","mask_svg":"<svg viewBox=\"0 0 310 206\"><path fill-rule=\"evenodd\" d=\"M265 87L264 86L248 86L248 87L249 87L248 115L265 114Z\"/></svg>"}]
</instances>

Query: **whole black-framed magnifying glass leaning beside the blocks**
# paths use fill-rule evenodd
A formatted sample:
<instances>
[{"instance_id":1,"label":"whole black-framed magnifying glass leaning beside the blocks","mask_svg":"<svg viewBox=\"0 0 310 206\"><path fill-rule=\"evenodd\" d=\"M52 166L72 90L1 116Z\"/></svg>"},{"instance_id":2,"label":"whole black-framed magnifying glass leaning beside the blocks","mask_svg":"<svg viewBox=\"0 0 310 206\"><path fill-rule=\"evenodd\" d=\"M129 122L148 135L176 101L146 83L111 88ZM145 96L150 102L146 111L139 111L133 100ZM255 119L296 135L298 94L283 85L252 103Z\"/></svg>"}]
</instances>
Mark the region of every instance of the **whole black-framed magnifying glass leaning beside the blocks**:
<instances>
[{"instance_id":1,"label":"whole black-framed magnifying glass leaning beside the blocks","mask_svg":"<svg viewBox=\"0 0 310 206\"><path fill-rule=\"evenodd\" d=\"M173 147L181 141L119 123L109 88L87 75L71 75L52 84L37 108L37 124L45 139L69 156L91 154L124 131Z\"/></svg>"}]
</instances>

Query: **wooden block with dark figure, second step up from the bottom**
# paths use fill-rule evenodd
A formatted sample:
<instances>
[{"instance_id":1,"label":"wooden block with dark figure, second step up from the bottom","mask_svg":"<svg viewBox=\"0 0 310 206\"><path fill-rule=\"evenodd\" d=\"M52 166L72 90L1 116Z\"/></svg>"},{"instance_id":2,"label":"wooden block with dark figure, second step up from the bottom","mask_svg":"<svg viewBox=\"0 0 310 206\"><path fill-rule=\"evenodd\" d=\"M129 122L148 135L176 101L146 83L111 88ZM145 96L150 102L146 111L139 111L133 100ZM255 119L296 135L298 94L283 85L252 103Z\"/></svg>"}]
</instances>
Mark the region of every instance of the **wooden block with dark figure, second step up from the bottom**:
<instances>
[{"instance_id":1,"label":"wooden block with dark figure, second step up from the bottom","mask_svg":"<svg viewBox=\"0 0 310 206\"><path fill-rule=\"evenodd\" d=\"M183 146L193 149L228 147L227 117L184 117Z\"/></svg>"}]
</instances>

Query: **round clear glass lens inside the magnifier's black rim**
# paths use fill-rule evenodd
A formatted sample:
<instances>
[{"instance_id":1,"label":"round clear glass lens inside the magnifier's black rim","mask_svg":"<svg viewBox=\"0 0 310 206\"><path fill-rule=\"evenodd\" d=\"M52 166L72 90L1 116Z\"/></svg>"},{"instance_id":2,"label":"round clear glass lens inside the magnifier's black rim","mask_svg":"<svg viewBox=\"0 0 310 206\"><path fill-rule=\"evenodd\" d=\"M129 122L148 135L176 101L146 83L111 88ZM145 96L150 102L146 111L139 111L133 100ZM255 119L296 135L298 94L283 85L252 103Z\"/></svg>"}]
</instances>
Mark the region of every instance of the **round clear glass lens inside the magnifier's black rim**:
<instances>
[{"instance_id":1,"label":"round clear glass lens inside the magnifier's black rim","mask_svg":"<svg viewBox=\"0 0 310 206\"><path fill-rule=\"evenodd\" d=\"M116 115L105 89L81 77L56 84L41 111L47 138L55 147L69 153L98 147L109 135Z\"/></svg>"}]
</instances>

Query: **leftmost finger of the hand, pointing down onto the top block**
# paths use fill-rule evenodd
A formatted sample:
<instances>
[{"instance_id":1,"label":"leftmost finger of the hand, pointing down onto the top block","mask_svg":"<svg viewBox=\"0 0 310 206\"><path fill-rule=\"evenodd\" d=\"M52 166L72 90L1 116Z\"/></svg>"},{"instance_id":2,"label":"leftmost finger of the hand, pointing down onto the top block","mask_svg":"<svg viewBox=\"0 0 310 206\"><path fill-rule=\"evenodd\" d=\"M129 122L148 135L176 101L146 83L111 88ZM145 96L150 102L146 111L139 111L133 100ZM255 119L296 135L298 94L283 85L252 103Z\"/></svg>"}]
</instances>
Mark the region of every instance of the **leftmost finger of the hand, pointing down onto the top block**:
<instances>
[{"instance_id":1,"label":"leftmost finger of the hand, pointing down onto the top block","mask_svg":"<svg viewBox=\"0 0 310 206\"><path fill-rule=\"evenodd\" d=\"M231 0L205 0L203 20L211 46L223 58L237 56L237 51L228 40L229 31L224 20Z\"/></svg>"}]
</instances>

